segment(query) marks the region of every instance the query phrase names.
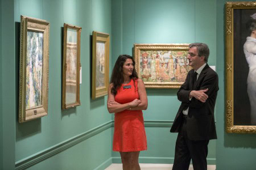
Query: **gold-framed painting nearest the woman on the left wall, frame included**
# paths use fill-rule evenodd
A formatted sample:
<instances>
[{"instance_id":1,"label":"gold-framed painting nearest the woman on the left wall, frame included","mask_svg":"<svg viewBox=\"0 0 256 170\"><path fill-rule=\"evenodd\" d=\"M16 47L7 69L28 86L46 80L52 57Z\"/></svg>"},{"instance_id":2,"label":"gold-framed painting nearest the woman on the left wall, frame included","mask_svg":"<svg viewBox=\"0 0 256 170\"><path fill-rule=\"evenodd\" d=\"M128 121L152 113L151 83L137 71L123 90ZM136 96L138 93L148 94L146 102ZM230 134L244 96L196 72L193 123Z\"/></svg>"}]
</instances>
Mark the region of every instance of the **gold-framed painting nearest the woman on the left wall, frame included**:
<instances>
[{"instance_id":1,"label":"gold-framed painting nearest the woman on the left wall, frame included","mask_svg":"<svg viewBox=\"0 0 256 170\"><path fill-rule=\"evenodd\" d=\"M109 34L93 31L92 99L108 94Z\"/></svg>"}]
</instances>

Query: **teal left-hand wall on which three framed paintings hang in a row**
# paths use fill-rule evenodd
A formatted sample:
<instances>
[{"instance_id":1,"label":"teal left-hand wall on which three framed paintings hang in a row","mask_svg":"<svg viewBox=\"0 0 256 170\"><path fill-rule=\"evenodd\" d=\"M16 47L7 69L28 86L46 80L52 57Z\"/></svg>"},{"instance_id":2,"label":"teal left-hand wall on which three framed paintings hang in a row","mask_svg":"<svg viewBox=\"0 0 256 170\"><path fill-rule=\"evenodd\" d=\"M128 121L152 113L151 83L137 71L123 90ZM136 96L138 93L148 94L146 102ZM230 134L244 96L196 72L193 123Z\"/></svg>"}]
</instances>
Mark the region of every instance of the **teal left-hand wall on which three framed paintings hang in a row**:
<instances>
[{"instance_id":1,"label":"teal left-hand wall on which three framed paintings hang in a row","mask_svg":"<svg viewBox=\"0 0 256 170\"><path fill-rule=\"evenodd\" d=\"M106 96L96 100L90 97L92 31L109 33L112 37L111 1L1 0L1 3L1 12L5 14L1 22L1 31L5 32L1 36L5 42L1 52L1 91L5 98L1 96L0 144L4 156L0 169L95 169L111 164L112 115L106 109ZM48 116L22 124L18 123L20 15L50 23ZM64 23L82 27L82 84L81 106L61 111Z\"/></svg>"}]
</instances>

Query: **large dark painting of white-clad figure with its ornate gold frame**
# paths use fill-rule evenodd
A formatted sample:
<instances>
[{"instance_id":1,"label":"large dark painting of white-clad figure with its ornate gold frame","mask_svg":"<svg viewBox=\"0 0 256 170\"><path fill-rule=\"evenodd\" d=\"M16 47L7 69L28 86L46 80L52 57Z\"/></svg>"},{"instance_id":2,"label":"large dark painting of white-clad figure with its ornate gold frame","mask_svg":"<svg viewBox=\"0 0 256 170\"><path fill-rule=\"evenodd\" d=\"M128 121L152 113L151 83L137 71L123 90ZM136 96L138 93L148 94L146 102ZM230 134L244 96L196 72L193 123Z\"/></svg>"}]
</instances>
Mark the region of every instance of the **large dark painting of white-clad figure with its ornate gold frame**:
<instances>
[{"instance_id":1,"label":"large dark painting of white-clad figure with its ornate gold frame","mask_svg":"<svg viewBox=\"0 0 256 170\"><path fill-rule=\"evenodd\" d=\"M256 3L226 3L226 131L256 133Z\"/></svg>"}]
</instances>

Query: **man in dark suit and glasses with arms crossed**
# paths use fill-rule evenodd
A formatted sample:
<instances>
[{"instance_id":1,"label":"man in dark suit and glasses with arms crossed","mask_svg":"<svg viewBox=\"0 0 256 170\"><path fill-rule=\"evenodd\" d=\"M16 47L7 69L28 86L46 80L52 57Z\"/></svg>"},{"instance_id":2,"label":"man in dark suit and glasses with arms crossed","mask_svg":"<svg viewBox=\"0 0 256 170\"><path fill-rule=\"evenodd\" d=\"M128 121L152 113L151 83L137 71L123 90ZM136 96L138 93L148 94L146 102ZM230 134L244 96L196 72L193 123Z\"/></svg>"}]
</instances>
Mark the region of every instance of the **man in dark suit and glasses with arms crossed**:
<instances>
[{"instance_id":1,"label":"man in dark suit and glasses with arms crossed","mask_svg":"<svg viewBox=\"0 0 256 170\"><path fill-rule=\"evenodd\" d=\"M177 92L181 101L171 132L179 133L175 146L173 170L207 169L208 143L217 139L214 106L218 75L207 64L209 48L203 43L189 45L189 66L185 83Z\"/></svg>"}]
</instances>

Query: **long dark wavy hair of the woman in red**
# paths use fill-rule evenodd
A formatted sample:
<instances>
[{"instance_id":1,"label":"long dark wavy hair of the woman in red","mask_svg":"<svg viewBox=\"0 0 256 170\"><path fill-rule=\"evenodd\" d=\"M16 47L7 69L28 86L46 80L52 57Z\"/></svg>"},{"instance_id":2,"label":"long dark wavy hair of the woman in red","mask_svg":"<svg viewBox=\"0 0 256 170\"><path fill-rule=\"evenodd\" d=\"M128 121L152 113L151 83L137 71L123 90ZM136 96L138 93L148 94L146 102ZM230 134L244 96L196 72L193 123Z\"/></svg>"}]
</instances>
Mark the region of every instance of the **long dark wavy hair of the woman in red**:
<instances>
[{"instance_id":1,"label":"long dark wavy hair of the woman in red","mask_svg":"<svg viewBox=\"0 0 256 170\"><path fill-rule=\"evenodd\" d=\"M138 74L135 70L135 61L133 57L126 54L120 55L117 58L117 61L115 62L115 66L113 68L112 76L110 79L110 83L113 83L113 87L111 89L111 93L113 95L117 94L118 88L121 87L123 84L123 63L125 63L126 59L128 58L130 58L133 61L133 65L134 65L133 74L130 75L130 78L133 80L138 79ZM135 85L135 82L134 82L134 85Z\"/></svg>"}]
</instances>

